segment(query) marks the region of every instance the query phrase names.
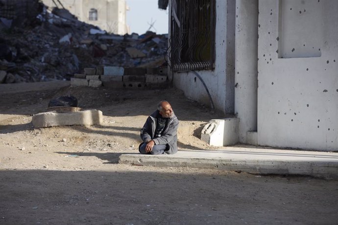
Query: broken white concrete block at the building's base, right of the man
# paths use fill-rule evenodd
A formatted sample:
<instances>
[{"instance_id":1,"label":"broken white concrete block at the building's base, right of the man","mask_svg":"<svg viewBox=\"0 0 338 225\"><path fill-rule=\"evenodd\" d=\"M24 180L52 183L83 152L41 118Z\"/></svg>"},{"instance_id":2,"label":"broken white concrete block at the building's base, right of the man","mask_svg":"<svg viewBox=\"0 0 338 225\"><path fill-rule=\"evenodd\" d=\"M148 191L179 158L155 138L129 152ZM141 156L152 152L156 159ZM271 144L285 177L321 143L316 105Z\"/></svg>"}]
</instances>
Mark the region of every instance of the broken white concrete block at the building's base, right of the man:
<instances>
[{"instance_id":1,"label":"broken white concrete block at the building's base, right of the man","mask_svg":"<svg viewBox=\"0 0 338 225\"><path fill-rule=\"evenodd\" d=\"M201 140L214 146L228 146L239 142L238 118L212 119L201 134Z\"/></svg>"}]
</instances>

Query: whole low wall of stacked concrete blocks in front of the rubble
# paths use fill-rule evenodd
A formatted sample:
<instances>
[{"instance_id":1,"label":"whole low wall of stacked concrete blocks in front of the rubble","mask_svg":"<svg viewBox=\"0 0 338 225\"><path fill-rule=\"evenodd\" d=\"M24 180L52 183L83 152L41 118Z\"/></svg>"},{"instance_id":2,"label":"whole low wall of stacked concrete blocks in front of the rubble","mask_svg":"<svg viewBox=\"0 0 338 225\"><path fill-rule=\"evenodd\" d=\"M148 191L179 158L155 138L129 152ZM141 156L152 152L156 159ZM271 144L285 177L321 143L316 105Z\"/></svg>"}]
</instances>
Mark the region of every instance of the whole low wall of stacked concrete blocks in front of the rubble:
<instances>
[{"instance_id":1,"label":"whole low wall of stacked concrete blocks in front of the rubble","mask_svg":"<svg viewBox=\"0 0 338 225\"><path fill-rule=\"evenodd\" d=\"M168 87L167 68L102 67L85 68L74 74L72 87L101 85L109 89L154 89Z\"/></svg>"}]
</instances>

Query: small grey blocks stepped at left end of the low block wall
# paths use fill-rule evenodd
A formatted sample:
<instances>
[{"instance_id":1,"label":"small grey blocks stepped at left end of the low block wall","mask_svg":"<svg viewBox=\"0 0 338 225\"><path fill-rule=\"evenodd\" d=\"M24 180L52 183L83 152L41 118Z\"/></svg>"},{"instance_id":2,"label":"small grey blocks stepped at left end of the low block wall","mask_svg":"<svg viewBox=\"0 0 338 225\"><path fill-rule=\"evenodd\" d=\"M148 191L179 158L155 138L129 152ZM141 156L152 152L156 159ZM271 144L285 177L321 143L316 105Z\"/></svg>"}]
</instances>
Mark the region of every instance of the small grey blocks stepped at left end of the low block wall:
<instances>
[{"instance_id":1,"label":"small grey blocks stepped at left end of the low block wall","mask_svg":"<svg viewBox=\"0 0 338 225\"><path fill-rule=\"evenodd\" d=\"M74 74L74 78L71 78L71 85L72 87L88 86L98 88L102 85L102 82L96 68L84 68L84 74Z\"/></svg>"}]
</instances>

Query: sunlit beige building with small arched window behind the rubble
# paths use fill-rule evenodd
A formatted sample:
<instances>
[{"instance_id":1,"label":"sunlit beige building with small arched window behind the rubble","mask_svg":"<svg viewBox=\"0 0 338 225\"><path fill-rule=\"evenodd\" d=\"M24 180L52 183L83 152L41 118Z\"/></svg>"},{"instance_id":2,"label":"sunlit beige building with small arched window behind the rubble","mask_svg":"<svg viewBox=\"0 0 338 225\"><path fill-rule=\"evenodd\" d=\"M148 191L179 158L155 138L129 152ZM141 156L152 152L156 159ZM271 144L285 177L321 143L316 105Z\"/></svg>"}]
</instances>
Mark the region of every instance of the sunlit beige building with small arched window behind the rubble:
<instances>
[{"instance_id":1,"label":"sunlit beige building with small arched window behind the rubble","mask_svg":"<svg viewBox=\"0 0 338 225\"><path fill-rule=\"evenodd\" d=\"M42 0L50 9L65 8L79 21L98 26L109 33L124 35L129 32L126 23L125 0Z\"/></svg>"}]
</instances>

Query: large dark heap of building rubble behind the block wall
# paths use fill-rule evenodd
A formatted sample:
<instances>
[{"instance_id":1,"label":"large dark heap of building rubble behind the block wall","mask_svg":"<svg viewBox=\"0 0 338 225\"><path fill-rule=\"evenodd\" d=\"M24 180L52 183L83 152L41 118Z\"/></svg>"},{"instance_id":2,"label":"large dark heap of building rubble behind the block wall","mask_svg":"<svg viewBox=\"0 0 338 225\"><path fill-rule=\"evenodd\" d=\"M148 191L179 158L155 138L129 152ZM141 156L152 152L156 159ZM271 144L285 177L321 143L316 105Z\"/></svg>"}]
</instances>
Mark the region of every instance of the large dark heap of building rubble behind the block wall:
<instances>
[{"instance_id":1,"label":"large dark heap of building rubble behind the block wall","mask_svg":"<svg viewBox=\"0 0 338 225\"><path fill-rule=\"evenodd\" d=\"M70 80L84 68L166 63L166 34L106 33L65 9L46 6L27 24L13 26L0 15L0 83Z\"/></svg>"}]
</instances>

